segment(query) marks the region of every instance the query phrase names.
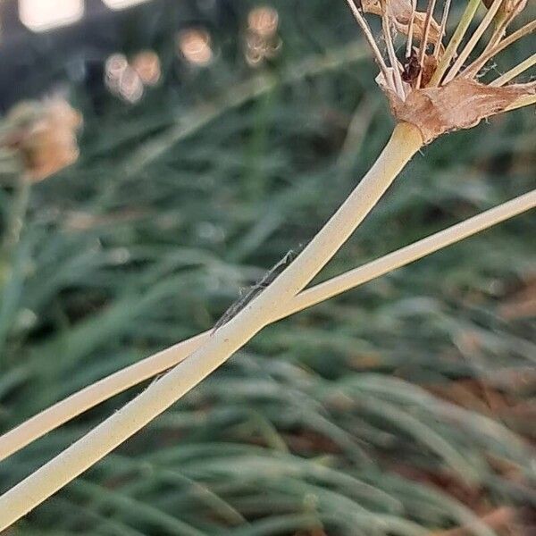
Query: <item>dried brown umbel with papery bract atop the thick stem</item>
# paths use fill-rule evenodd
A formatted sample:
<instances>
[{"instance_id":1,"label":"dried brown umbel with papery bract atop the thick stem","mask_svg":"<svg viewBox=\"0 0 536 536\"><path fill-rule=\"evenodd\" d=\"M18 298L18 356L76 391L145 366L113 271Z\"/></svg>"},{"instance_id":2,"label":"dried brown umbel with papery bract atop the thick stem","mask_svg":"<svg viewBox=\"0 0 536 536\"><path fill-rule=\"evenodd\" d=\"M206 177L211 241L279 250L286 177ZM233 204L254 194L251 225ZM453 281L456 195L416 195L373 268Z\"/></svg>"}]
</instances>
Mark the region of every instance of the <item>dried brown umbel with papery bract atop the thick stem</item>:
<instances>
[{"instance_id":1,"label":"dried brown umbel with papery bract atop the thick stem","mask_svg":"<svg viewBox=\"0 0 536 536\"><path fill-rule=\"evenodd\" d=\"M507 35L527 0L487 0L488 9L482 21L472 35L465 36L480 4L480 0L468 0L465 13L446 45L443 37L450 0L428 0L423 12L417 10L416 0L347 3L373 48L381 71L377 81L389 99L392 113L398 121L414 124L424 143L448 131L472 128L491 115L536 102L536 82L510 83L536 64L536 54L488 84L479 81L482 68L495 55L536 29L536 22L530 21ZM436 11L440 12L437 18ZM381 17L387 57L381 54L364 13ZM471 60L475 46L488 29L489 41L481 47L480 55ZM394 46L397 33L406 36L403 58Z\"/></svg>"}]
</instances>

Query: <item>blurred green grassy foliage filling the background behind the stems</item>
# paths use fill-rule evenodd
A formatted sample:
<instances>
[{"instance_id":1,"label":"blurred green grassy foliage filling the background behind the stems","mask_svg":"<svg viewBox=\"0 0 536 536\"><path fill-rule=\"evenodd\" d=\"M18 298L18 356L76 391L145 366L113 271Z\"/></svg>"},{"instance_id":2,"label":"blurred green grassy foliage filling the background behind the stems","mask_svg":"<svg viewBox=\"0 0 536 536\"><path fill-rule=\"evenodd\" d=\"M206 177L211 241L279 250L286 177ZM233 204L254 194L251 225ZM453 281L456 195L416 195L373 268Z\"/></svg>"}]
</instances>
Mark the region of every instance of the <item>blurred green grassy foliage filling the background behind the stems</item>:
<instances>
[{"instance_id":1,"label":"blurred green grassy foliage filling the background behind the stems","mask_svg":"<svg viewBox=\"0 0 536 536\"><path fill-rule=\"evenodd\" d=\"M163 64L137 105L71 88L80 160L32 188L4 278L2 431L210 328L379 154L393 121L344 3L273 2L283 46L257 69L253 5L187 17L212 32L205 68L175 56L171 13L127 34ZM425 147L322 279L533 188L535 143L523 110ZM535 231L525 214L270 326L9 534L420 535L490 514L467 533L532 534ZM5 460L1 490L139 389Z\"/></svg>"}]
</instances>

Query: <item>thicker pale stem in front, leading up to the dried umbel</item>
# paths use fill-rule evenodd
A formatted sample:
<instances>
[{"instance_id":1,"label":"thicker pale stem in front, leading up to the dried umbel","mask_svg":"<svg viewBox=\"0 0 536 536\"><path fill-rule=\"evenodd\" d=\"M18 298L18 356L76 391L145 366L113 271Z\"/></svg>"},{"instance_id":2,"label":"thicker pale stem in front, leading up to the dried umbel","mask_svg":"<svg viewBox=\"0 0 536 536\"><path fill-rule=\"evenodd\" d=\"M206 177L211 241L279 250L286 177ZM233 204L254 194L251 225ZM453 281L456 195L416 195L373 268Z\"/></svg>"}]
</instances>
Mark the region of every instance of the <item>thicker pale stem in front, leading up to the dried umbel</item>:
<instances>
[{"instance_id":1,"label":"thicker pale stem in front, leading up to the dried umbel","mask_svg":"<svg viewBox=\"0 0 536 536\"><path fill-rule=\"evenodd\" d=\"M398 124L364 179L289 268L259 297L211 334L201 348L170 373L0 497L0 530L141 430L214 372L257 331L280 317L289 301L338 251L422 145L423 138L415 126Z\"/></svg>"}]
</instances>

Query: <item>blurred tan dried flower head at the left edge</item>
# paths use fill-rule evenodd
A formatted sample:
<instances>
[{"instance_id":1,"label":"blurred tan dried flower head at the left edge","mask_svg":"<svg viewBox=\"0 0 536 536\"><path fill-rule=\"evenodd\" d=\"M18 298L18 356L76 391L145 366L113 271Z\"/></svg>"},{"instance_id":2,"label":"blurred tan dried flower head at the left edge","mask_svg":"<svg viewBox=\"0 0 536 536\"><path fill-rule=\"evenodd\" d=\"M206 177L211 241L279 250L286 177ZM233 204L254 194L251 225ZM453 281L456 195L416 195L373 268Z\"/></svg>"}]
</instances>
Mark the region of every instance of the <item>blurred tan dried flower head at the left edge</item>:
<instances>
[{"instance_id":1,"label":"blurred tan dried flower head at the left edge","mask_svg":"<svg viewBox=\"0 0 536 536\"><path fill-rule=\"evenodd\" d=\"M16 105L6 122L4 145L21 155L30 180L46 179L78 159L76 132L82 116L63 98Z\"/></svg>"}]
</instances>

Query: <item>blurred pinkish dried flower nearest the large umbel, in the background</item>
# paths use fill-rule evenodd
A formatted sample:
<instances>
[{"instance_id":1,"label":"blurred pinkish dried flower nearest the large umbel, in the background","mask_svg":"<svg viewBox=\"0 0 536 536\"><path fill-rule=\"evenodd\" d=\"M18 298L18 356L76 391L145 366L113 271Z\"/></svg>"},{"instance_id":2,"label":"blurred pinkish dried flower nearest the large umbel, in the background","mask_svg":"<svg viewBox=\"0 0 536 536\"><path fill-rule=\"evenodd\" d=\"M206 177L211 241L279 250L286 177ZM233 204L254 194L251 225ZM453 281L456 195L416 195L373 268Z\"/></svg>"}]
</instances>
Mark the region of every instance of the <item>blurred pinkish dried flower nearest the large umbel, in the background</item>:
<instances>
[{"instance_id":1,"label":"blurred pinkish dried flower nearest the large umbel, in the background","mask_svg":"<svg viewBox=\"0 0 536 536\"><path fill-rule=\"evenodd\" d=\"M282 41L278 28L279 13L274 8L264 5L248 13L244 54L249 65L260 65L279 54Z\"/></svg>"}]
</instances>

